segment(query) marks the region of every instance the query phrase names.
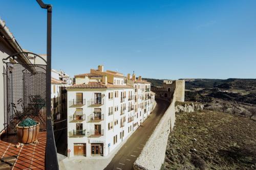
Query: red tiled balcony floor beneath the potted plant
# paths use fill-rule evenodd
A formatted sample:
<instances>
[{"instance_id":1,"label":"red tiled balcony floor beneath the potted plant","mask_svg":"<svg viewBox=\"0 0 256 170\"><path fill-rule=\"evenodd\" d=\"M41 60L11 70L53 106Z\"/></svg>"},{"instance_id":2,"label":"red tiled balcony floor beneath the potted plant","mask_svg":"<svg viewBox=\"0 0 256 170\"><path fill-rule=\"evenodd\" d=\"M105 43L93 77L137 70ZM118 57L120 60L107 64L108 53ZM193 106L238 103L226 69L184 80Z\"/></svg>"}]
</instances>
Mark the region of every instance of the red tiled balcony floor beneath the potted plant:
<instances>
[{"instance_id":1,"label":"red tiled balcony floor beneath the potted plant","mask_svg":"<svg viewBox=\"0 0 256 170\"><path fill-rule=\"evenodd\" d=\"M16 148L16 135L0 140L0 158L17 157L13 169L45 169L46 132L39 132L38 144L26 144Z\"/></svg>"}]
</instances>

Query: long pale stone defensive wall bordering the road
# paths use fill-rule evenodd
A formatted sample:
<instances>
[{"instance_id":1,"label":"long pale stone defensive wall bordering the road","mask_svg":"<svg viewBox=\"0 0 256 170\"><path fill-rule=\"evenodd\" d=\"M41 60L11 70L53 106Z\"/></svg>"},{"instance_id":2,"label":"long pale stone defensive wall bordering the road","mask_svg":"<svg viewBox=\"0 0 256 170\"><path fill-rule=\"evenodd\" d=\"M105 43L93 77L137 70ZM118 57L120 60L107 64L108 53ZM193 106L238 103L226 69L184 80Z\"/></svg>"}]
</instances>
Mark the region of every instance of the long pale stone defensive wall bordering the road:
<instances>
[{"instance_id":1,"label":"long pale stone defensive wall bordering the road","mask_svg":"<svg viewBox=\"0 0 256 170\"><path fill-rule=\"evenodd\" d=\"M175 124L176 89L168 109L160 119L156 129L147 140L141 154L134 162L134 169L159 170L164 162L165 151L170 131Z\"/></svg>"}]
</instances>

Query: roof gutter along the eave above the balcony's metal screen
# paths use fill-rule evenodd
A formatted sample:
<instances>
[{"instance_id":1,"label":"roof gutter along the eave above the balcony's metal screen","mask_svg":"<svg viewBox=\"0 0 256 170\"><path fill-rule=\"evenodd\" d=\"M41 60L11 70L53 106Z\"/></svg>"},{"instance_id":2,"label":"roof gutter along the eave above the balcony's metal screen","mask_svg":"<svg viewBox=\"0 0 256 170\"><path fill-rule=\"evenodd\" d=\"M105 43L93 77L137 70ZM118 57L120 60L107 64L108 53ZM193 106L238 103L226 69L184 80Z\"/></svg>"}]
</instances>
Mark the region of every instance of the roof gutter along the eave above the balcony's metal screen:
<instances>
[{"instance_id":1,"label":"roof gutter along the eave above the balcony's metal screen","mask_svg":"<svg viewBox=\"0 0 256 170\"><path fill-rule=\"evenodd\" d=\"M22 47L19 46L19 44L13 37L12 33L6 27L5 21L3 21L1 19L0 19L0 33L2 33L4 35L4 37L8 40L9 44L14 48L14 50L17 53L23 52ZM29 59L27 58L27 56L25 54L19 54L19 55L23 58L23 60L26 63L31 64L31 62L29 61Z\"/></svg>"}]
</instances>

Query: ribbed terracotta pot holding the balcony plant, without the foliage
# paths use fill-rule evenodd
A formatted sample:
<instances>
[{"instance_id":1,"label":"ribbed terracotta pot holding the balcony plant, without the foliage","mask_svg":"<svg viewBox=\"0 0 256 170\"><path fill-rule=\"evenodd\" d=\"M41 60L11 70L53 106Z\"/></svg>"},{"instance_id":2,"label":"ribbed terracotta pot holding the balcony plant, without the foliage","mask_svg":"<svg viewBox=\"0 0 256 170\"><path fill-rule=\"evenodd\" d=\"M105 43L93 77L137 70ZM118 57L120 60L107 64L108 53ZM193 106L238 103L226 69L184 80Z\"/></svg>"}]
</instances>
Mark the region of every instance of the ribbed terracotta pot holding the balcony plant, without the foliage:
<instances>
[{"instance_id":1,"label":"ribbed terracotta pot holding the balcony plant, without the foliage","mask_svg":"<svg viewBox=\"0 0 256 170\"><path fill-rule=\"evenodd\" d=\"M34 126L27 126L27 127L21 127L18 125L16 126L18 141L20 143L27 144L37 140L40 123L39 122L36 122L36 123L37 125L34 125Z\"/></svg>"}]
</instances>

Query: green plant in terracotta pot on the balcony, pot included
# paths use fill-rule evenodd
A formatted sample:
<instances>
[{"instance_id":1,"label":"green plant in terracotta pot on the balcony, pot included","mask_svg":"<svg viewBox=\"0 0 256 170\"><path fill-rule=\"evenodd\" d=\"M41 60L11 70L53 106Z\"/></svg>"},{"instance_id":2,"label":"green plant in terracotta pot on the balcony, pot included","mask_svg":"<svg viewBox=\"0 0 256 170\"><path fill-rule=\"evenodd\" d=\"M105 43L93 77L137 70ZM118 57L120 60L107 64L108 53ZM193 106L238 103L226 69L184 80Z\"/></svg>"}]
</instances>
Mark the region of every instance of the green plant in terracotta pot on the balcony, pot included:
<instances>
[{"instance_id":1,"label":"green plant in terracotta pot on the balcony, pot included","mask_svg":"<svg viewBox=\"0 0 256 170\"><path fill-rule=\"evenodd\" d=\"M20 143L32 143L37 141L39 133L39 122L35 122L31 118L26 118L17 124L17 136Z\"/></svg>"}]
</instances>

